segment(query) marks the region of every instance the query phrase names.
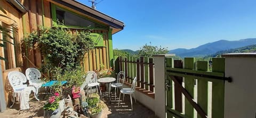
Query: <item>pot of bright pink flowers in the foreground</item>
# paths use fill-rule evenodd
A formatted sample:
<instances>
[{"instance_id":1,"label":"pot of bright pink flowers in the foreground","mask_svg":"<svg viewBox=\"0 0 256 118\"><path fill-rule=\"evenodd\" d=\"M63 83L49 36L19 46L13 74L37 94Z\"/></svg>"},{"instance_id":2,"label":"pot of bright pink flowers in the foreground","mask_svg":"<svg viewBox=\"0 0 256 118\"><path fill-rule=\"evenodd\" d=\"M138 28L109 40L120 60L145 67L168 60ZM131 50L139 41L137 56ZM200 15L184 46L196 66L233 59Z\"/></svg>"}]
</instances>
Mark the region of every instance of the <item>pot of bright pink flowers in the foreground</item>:
<instances>
[{"instance_id":1,"label":"pot of bright pink flowers in the foreground","mask_svg":"<svg viewBox=\"0 0 256 118\"><path fill-rule=\"evenodd\" d=\"M46 104L44 105L44 118L59 118L61 115L60 106L61 96L59 93L55 93L53 96L50 96L47 99Z\"/></svg>"}]
</instances>

